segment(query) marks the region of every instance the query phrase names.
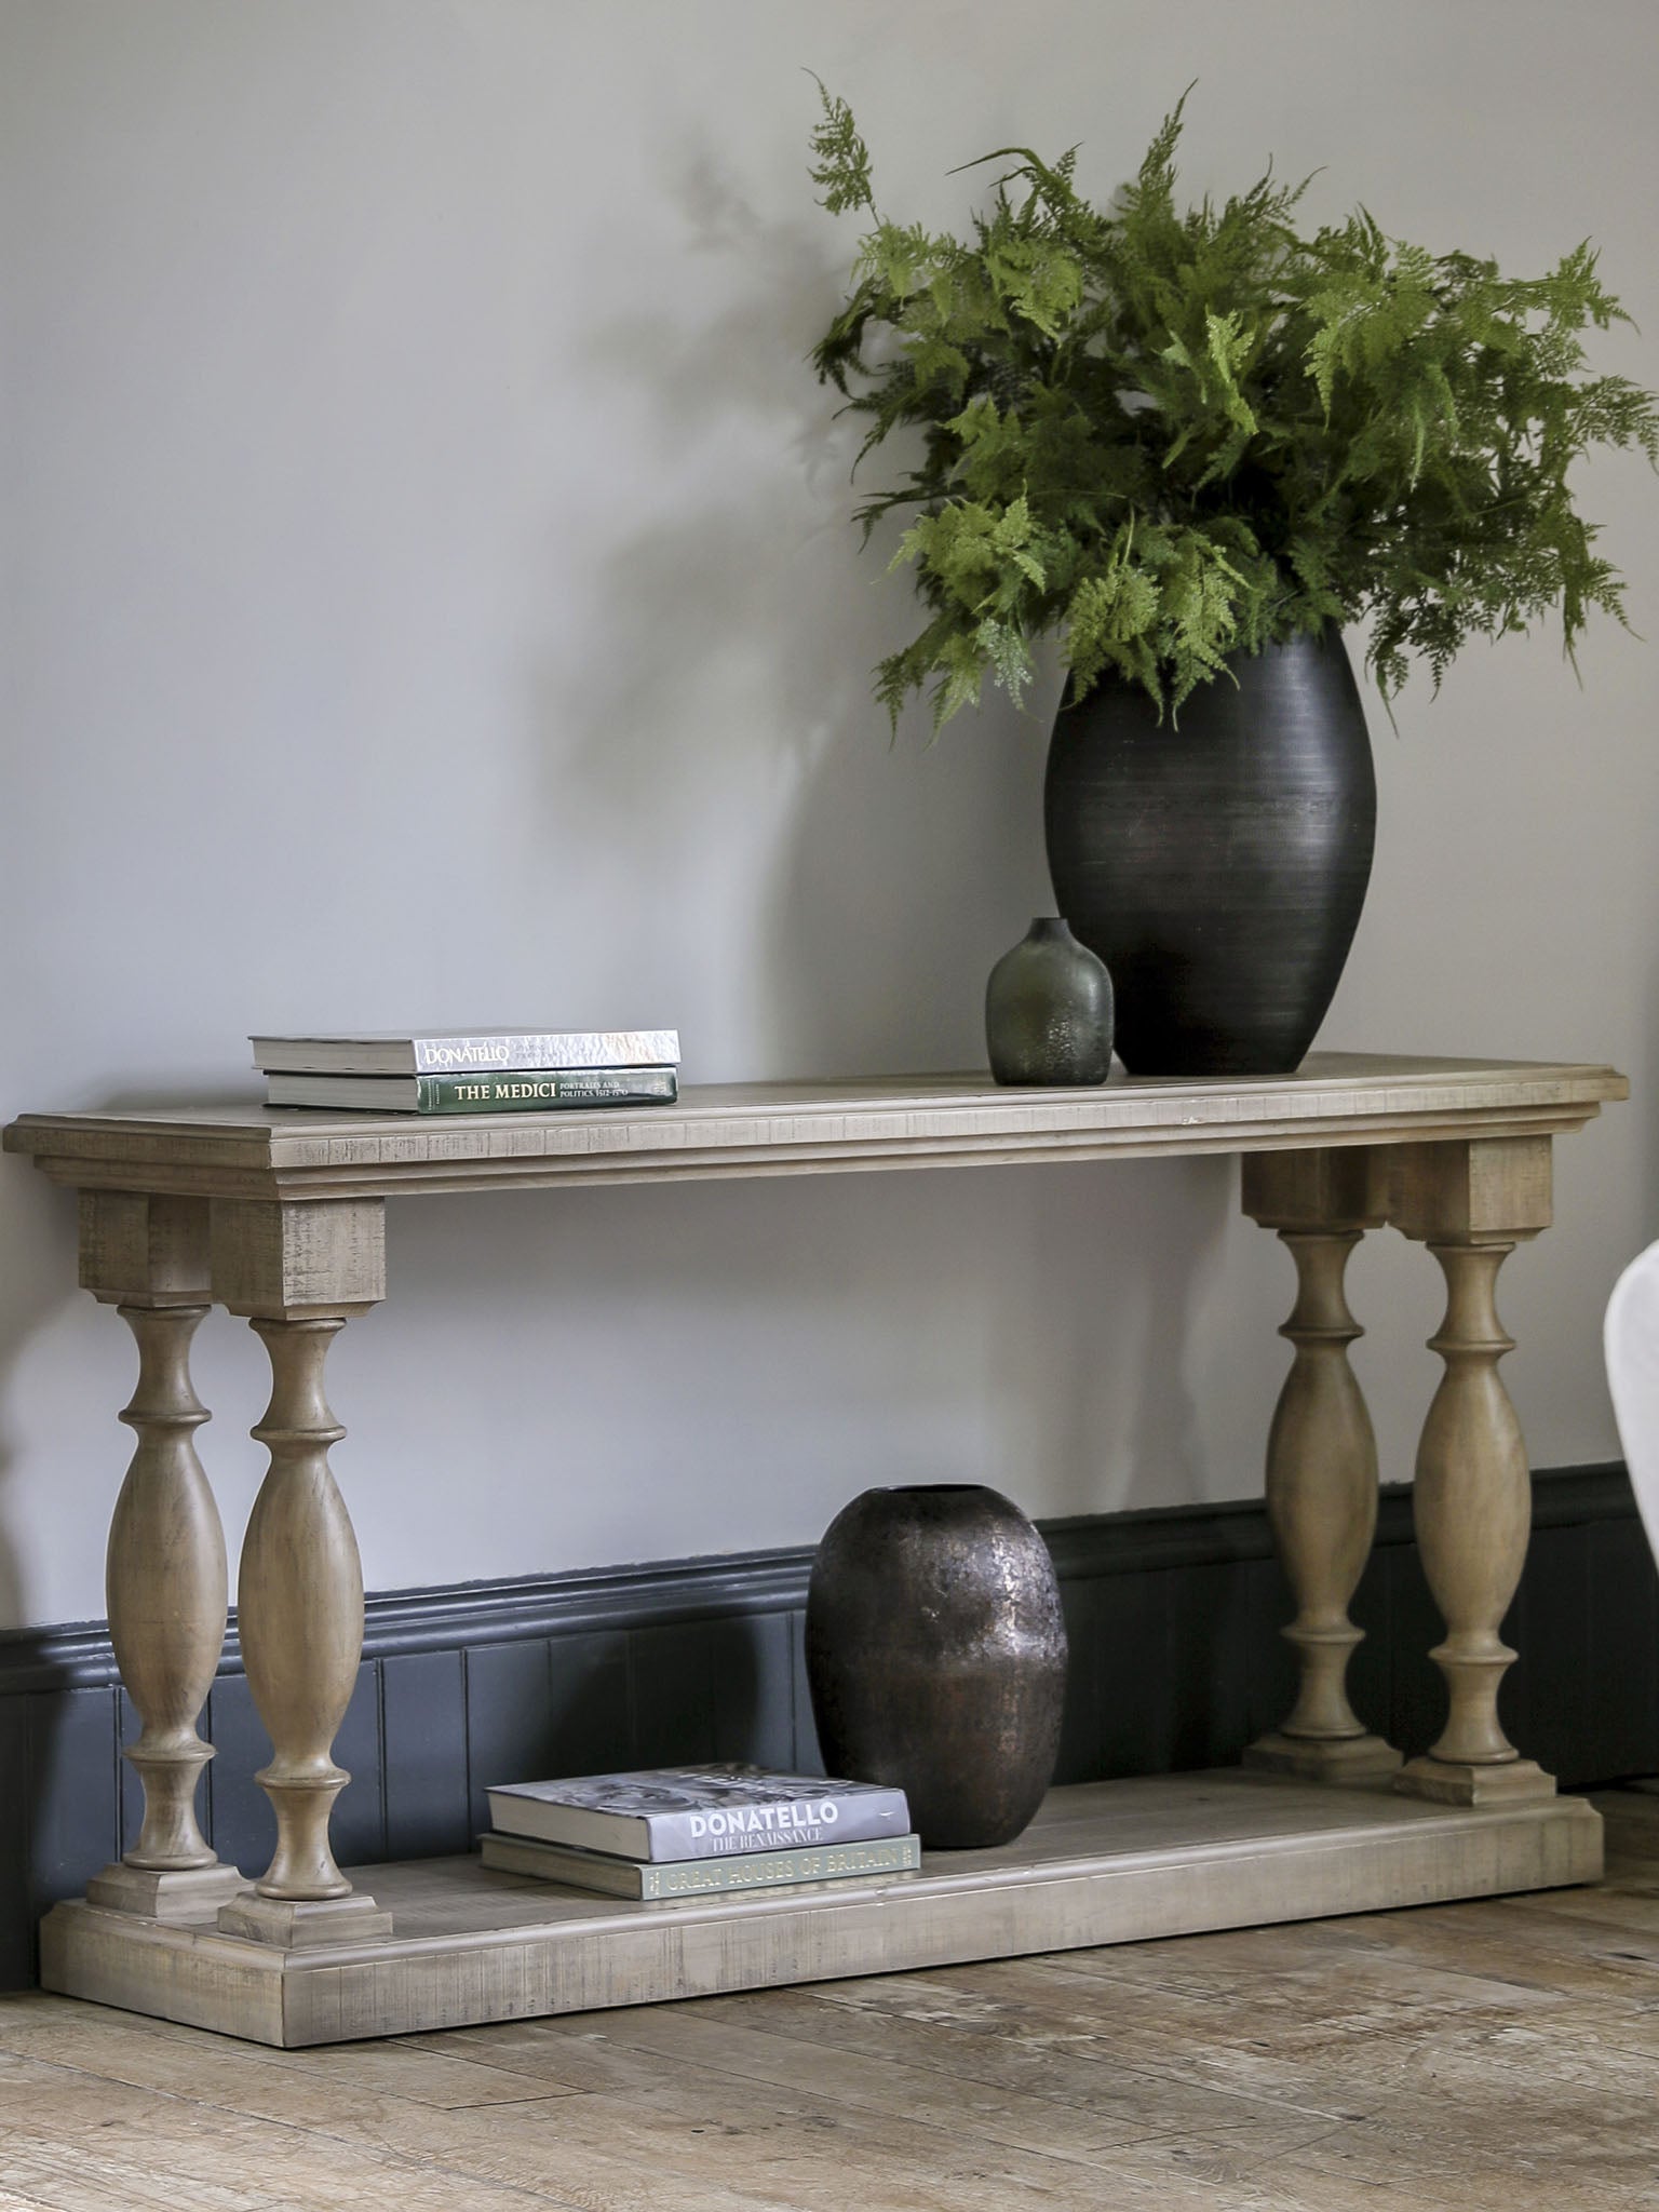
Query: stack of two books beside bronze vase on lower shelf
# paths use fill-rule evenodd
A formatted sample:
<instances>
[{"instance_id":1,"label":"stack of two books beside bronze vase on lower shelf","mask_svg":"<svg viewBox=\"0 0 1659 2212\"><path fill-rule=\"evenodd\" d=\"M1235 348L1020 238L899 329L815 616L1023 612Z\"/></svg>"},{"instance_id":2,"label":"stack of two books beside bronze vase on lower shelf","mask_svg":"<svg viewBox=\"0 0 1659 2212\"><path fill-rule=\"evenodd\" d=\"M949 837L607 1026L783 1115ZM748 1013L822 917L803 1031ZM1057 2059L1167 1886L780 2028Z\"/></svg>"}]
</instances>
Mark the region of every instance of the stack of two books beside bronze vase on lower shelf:
<instances>
[{"instance_id":1,"label":"stack of two books beside bronze vase on lower shelf","mask_svg":"<svg viewBox=\"0 0 1659 2212\"><path fill-rule=\"evenodd\" d=\"M922 1863L902 1790L765 1767L648 1767L489 1792L487 1867L613 1898L699 1898Z\"/></svg>"}]
</instances>

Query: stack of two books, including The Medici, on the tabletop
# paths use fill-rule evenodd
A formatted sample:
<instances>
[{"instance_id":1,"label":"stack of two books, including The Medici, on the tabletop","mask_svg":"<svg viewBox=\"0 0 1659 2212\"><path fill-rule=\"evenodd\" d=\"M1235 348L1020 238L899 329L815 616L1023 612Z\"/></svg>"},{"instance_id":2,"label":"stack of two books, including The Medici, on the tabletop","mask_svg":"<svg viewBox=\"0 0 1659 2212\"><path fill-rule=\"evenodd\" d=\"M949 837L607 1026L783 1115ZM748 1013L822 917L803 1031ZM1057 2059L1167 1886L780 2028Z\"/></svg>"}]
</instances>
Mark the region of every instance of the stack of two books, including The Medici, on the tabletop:
<instances>
[{"instance_id":1,"label":"stack of two books, including The Medici, on the tabletop","mask_svg":"<svg viewBox=\"0 0 1659 2212\"><path fill-rule=\"evenodd\" d=\"M358 1113L549 1113L672 1106L675 1029L480 1029L250 1037L270 1106Z\"/></svg>"}]
</instances>

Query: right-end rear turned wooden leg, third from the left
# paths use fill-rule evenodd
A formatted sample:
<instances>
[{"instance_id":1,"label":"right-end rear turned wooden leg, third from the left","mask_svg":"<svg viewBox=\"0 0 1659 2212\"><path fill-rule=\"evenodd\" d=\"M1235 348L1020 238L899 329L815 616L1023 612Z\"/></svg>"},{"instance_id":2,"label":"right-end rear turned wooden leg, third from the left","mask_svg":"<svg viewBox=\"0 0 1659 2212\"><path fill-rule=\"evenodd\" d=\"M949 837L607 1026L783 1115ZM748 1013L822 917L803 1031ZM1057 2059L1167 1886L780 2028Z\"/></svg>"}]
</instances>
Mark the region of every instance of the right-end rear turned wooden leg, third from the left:
<instances>
[{"instance_id":1,"label":"right-end rear turned wooden leg, third from the left","mask_svg":"<svg viewBox=\"0 0 1659 2212\"><path fill-rule=\"evenodd\" d=\"M1347 1606L1376 1535L1376 1440L1347 1363L1363 1332L1343 1274L1365 1228L1383 1221L1374 1155L1252 1152L1243 1210L1276 1228L1296 1261L1296 1307L1279 1332L1296 1358L1267 1438L1267 1520L1296 1597L1285 1635L1301 1661L1290 1717L1250 1745L1245 1765L1310 1781L1387 1781L1400 1754L1367 1734L1345 1686L1363 1635Z\"/></svg>"}]
</instances>

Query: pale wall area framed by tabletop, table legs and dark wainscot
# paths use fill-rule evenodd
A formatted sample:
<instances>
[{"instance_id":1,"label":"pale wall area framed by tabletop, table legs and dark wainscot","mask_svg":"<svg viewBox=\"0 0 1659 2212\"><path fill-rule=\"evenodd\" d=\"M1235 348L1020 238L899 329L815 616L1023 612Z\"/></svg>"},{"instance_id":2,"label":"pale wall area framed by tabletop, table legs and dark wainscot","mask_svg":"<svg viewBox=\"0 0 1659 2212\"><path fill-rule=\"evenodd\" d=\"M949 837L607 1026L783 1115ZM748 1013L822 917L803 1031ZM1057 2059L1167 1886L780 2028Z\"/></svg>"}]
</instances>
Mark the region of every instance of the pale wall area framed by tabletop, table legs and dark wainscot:
<instances>
[{"instance_id":1,"label":"pale wall area framed by tabletop, table legs and dark wainscot","mask_svg":"<svg viewBox=\"0 0 1659 2212\"><path fill-rule=\"evenodd\" d=\"M1190 1347L1230 1219L1225 1159L394 1208L385 1336L336 1400L369 1584L489 1575L509 1542L524 1571L803 1544L887 1482L1037 1515L1214 1495L1237 1469ZM513 1310L462 1345L487 1283ZM480 1451L489 1407L531 1405L540 1449ZM414 1464L473 1467L469 1528Z\"/></svg>"}]
</instances>

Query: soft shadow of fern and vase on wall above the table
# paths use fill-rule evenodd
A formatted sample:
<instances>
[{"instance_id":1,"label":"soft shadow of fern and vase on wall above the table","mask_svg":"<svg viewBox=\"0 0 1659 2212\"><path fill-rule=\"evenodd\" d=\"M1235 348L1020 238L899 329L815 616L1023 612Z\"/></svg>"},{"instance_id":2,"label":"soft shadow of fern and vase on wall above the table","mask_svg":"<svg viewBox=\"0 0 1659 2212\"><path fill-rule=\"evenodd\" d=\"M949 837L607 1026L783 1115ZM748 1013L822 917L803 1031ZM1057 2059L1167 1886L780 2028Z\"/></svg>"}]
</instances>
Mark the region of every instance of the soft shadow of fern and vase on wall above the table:
<instances>
[{"instance_id":1,"label":"soft shadow of fern and vase on wall above the table","mask_svg":"<svg viewBox=\"0 0 1659 2212\"><path fill-rule=\"evenodd\" d=\"M734 1000L730 1024L763 1040L757 1073L982 1064L984 975L1051 898L1044 719L998 699L938 752L920 717L889 750L872 666L916 606L878 549L860 557L858 427L807 363L841 296L834 230L761 219L708 153L670 190L692 254L723 263L726 305L586 343L672 462L661 520L577 584L580 659L542 677L551 834L604 849L611 885L648 883L653 916L686 918L672 958Z\"/></svg>"}]
</instances>

